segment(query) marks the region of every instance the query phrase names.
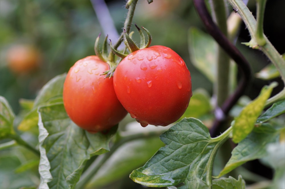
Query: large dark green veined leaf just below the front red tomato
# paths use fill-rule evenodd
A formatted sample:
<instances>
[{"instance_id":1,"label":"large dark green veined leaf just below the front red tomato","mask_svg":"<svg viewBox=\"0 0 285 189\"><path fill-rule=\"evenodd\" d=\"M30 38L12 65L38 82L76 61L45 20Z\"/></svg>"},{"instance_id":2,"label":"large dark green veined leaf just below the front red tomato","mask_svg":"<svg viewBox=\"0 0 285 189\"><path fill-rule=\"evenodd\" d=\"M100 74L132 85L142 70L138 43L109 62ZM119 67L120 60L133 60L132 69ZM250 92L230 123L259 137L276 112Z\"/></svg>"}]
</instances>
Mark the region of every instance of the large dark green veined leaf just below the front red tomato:
<instances>
[{"instance_id":1,"label":"large dark green veined leaf just below the front red tomato","mask_svg":"<svg viewBox=\"0 0 285 189\"><path fill-rule=\"evenodd\" d=\"M149 187L185 185L180 188L211 188L215 154L229 132L211 138L209 130L195 118L184 118L160 135L160 148L130 178Z\"/></svg>"}]
</instances>

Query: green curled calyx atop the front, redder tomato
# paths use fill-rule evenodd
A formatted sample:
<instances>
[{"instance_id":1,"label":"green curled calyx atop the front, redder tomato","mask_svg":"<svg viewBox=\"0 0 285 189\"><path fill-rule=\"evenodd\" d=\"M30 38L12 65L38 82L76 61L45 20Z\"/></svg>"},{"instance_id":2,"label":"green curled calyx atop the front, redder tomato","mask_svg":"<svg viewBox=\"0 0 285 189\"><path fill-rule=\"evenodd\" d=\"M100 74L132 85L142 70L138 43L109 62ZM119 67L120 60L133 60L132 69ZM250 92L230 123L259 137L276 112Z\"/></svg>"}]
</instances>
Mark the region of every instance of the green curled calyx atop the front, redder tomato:
<instances>
[{"instance_id":1,"label":"green curled calyx atop the front, redder tomato","mask_svg":"<svg viewBox=\"0 0 285 189\"><path fill-rule=\"evenodd\" d=\"M126 45L127 49L128 49L131 53L132 53L132 52L135 52L135 51L137 51L137 50L139 50L139 49L144 49L144 48L149 47L149 45L150 45L150 43L151 43L151 39L152 39L150 32L149 32L146 28L144 28L144 27L142 26L143 30L146 32L146 34L147 34L147 36L148 36L148 41L147 41L147 43L145 43L145 36L144 36L142 30L141 30L136 24L135 24L135 26L136 26L136 28L138 29L139 34L140 34L140 40L141 40L141 41L140 41L139 47L136 45L136 43L135 43L135 42L133 41L133 39L132 39L132 34L133 34L133 32L131 32L131 33L128 34L128 33L126 32L126 30L124 29L124 39L125 39L124 42L125 42L125 45ZM120 58L125 58L125 57L127 56L127 54L125 54L125 52L121 53L121 52L117 51L117 50L113 47L111 40L110 40L110 48L111 48L111 51L112 51L114 54L116 54L117 56L119 56Z\"/></svg>"}]
</instances>

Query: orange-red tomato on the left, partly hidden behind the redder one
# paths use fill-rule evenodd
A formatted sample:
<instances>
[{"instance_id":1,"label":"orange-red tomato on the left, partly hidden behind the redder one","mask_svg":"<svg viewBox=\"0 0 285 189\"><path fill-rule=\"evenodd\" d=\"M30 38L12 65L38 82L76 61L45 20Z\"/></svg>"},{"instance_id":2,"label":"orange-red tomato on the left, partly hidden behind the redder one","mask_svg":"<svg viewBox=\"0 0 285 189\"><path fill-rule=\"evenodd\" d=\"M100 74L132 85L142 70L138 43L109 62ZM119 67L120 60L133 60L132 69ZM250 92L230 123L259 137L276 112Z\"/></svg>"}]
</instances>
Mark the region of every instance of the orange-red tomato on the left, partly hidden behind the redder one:
<instances>
[{"instance_id":1,"label":"orange-red tomato on the left, partly hidden behind the redder one","mask_svg":"<svg viewBox=\"0 0 285 189\"><path fill-rule=\"evenodd\" d=\"M107 130L127 111L114 91L113 78L104 78L109 65L97 56L78 60L70 68L63 88L63 102L70 119L91 133Z\"/></svg>"}]
</instances>

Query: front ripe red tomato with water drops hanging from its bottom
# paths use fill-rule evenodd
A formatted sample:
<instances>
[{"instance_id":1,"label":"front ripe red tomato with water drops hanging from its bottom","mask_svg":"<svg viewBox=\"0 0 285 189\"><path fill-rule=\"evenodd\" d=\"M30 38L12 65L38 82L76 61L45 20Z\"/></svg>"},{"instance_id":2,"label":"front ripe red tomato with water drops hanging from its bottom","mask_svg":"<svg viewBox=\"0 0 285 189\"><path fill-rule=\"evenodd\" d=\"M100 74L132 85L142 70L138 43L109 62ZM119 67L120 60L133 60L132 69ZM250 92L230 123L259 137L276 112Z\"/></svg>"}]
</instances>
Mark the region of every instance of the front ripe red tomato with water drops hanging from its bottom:
<instances>
[{"instance_id":1,"label":"front ripe red tomato with water drops hanging from its bottom","mask_svg":"<svg viewBox=\"0 0 285 189\"><path fill-rule=\"evenodd\" d=\"M126 56L114 72L115 93L142 126L177 121L192 96L190 72L172 49L160 45Z\"/></svg>"}]
</instances>

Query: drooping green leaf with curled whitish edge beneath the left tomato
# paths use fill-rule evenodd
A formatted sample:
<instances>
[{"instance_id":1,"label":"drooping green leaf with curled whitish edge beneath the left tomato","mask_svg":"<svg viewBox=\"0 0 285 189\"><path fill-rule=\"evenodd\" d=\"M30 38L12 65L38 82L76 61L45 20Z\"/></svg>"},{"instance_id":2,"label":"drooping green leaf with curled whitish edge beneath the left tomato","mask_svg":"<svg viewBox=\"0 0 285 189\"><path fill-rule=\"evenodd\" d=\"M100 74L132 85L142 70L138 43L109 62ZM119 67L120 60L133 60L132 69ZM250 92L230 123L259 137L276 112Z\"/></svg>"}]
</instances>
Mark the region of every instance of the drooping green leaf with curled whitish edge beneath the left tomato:
<instances>
[{"instance_id":1,"label":"drooping green leaf with curled whitish edge beneath the left tomato","mask_svg":"<svg viewBox=\"0 0 285 189\"><path fill-rule=\"evenodd\" d=\"M38 113L39 188L73 188L86 161L109 151L117 127L107 134L90 134L69 119L62 103L41 106Z\"/></svg>"}]
</instances>

